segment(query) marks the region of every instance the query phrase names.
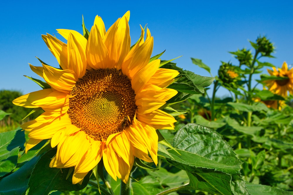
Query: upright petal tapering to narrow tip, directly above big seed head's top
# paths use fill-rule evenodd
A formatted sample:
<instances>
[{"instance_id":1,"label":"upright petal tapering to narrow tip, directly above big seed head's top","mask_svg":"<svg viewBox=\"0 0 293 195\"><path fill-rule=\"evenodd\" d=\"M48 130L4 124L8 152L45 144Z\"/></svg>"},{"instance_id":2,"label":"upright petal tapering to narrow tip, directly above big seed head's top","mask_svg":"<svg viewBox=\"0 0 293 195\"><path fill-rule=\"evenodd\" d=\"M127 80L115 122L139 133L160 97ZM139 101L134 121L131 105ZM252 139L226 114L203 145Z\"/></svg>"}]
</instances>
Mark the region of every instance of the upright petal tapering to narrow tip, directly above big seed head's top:
<instances>
[{"instance_id":1,"label":"upright petal tapering to narrow tip, directly above big seed head's top","mask_svg":"<svg viewBox=\"0 0 293 195\"><path fill-rule=\"evenodd\" d=\"M88 68L108 68L108 49L103 42L97 25L91 28L86 45L86 58L89 66Z\"/></svg>"}]
</instances>

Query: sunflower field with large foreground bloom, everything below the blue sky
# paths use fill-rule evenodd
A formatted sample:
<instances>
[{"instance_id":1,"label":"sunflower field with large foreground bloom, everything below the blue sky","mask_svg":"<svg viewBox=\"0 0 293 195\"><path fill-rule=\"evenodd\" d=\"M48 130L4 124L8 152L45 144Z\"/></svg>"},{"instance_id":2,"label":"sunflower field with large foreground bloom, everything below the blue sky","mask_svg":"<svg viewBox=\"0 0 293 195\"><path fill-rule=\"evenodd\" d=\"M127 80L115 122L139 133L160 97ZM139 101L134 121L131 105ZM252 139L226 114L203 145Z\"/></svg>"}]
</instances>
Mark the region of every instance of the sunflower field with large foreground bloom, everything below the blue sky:
<instances>
[{"instance_id":1,"label":"sunflower field with large foreground bloom, everything below the blue sky","mask_svg":"<svg viewBox=\"0 0 293 195\"><path fill-rule=\"evenodd\" d=\"M293 194L293 68L270 40L218 75L191 58L206 77L153 55L147 27L131 45L129 18L42 35L40 90L0 91L0 195Z\"/></svg>"}]
</instances>

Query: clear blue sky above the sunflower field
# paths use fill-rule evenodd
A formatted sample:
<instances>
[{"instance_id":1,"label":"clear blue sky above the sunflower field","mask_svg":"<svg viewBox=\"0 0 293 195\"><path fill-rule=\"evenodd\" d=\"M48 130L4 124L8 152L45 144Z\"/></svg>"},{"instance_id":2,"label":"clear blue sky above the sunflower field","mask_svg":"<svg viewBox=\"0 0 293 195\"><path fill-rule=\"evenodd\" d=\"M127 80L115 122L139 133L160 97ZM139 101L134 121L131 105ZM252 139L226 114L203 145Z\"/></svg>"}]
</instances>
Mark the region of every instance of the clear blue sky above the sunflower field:
<instances>
[{"instance_id":1,"label":"clear blue sky above the sunflower field","mask_svg":"<svg viewBox=\"0 0 293 195\"><path fill-rule=\"evenodd\" d=\"M82 33L82 15L88 29L100 15L106 29L130 10L132 43L147 24L154 36L153 55L166 49L162 59L183 55L174 62L199 75L209 74L192 64L200 58L217 75L220 61L236 61L228 51L251 49L248 40L266 35L275 45L276 58L266 61L281 67L293 64L293 1L1 1L0 3L0 89L26 94L41 88L23 77L40 78L28 63L41 64L37 56L57 67L57 61L41 38L56 29ZM223 3L225 2L225 3ZM265 73L267 71L265 70ZM222 91L219 96L228 94Z\"/></svg>"}]
</instances>

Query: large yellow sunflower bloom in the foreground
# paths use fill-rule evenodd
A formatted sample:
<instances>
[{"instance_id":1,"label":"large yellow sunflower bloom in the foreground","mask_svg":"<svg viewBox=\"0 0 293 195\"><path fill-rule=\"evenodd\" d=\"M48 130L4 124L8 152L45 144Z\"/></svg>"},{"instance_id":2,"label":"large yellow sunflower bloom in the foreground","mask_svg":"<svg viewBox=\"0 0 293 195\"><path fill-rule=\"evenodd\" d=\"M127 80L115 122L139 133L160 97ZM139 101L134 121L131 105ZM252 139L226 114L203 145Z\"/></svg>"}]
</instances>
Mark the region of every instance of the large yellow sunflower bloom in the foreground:
<instances>
[{"instance_id":1,"label":"large yellow sunflower bloom in the foreground","mask_svg":"<svg viewBox=\"0 0 293 195\"><path fill-rule=\"evenodd\" d=\"M176 120L159 108L177 94L166 88L179 73L150 61L153 37L141 27L130 47L126 12L109 29L96 16L88 39L74 30L58 29L67 44L47 34L45 43L59 68L30 65L49 89L13 101L45 112L21 127L28 131L25 151L44 139L57 146L50 167L74 167L73 184L81 183L101 159L115 180L127 182L134 158L157 164L156 129L173 129ZM144 40L145 39L145 40Z\"/></svg>"}]
</instances>

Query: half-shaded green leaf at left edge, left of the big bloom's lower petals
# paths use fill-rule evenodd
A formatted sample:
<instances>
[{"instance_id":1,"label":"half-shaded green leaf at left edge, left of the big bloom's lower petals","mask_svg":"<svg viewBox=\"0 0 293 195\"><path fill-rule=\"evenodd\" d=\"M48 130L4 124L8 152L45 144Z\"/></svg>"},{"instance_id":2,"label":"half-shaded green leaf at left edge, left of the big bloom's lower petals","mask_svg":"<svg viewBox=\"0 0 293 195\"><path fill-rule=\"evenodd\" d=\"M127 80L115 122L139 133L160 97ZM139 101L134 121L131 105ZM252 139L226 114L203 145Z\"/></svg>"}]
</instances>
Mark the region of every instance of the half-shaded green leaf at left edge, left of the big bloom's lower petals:
<instances>
[{"instance_id":1,"label":"half-shaded green leaf at left edge, left of the big bloom's lower petals","mask_svg":"<svg viewBox=\"0 0 293 195\"><path fill-rule=\"evenodd\" d=\"M0 177L16 167L18 152L24 143L25 136L21 130L0 133Z\"/></svg>"}]
</instances>

